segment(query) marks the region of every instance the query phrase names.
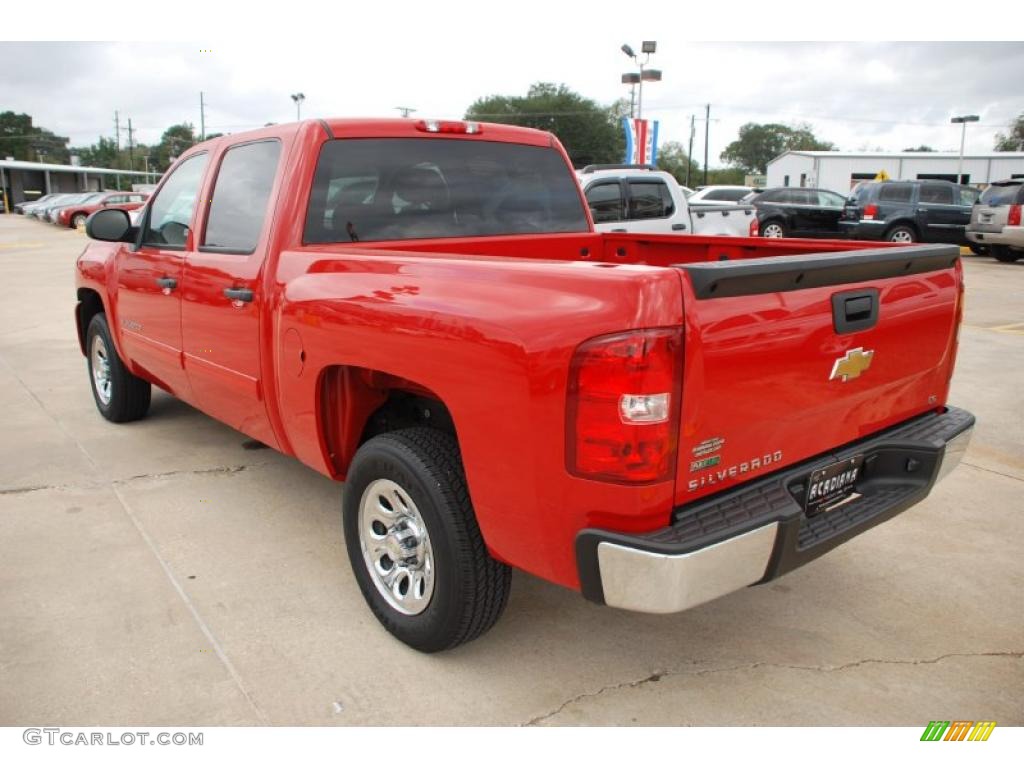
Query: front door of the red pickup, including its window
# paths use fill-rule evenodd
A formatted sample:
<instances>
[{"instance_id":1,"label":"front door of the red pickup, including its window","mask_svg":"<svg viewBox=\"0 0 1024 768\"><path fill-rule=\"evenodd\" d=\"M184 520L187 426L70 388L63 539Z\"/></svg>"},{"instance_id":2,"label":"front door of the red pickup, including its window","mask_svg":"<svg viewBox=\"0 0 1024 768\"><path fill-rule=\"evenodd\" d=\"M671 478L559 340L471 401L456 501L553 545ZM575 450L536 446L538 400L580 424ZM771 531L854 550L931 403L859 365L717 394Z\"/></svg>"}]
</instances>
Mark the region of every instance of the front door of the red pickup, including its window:
<instances>
[{"instance_id":1,"label":"front door of the red pickup, including its window","mask_svg":"<svg viewBox=\"0 0 1024 768\"><path fill-rule=\"evenodd\" d=\"M140 245L117 256L117 317L122 351L146 378L184 400L190 389L181 358L182 266L194 247L196 201L207 155L174 168L142 221Z\"/></svg>"}]
</instances>

